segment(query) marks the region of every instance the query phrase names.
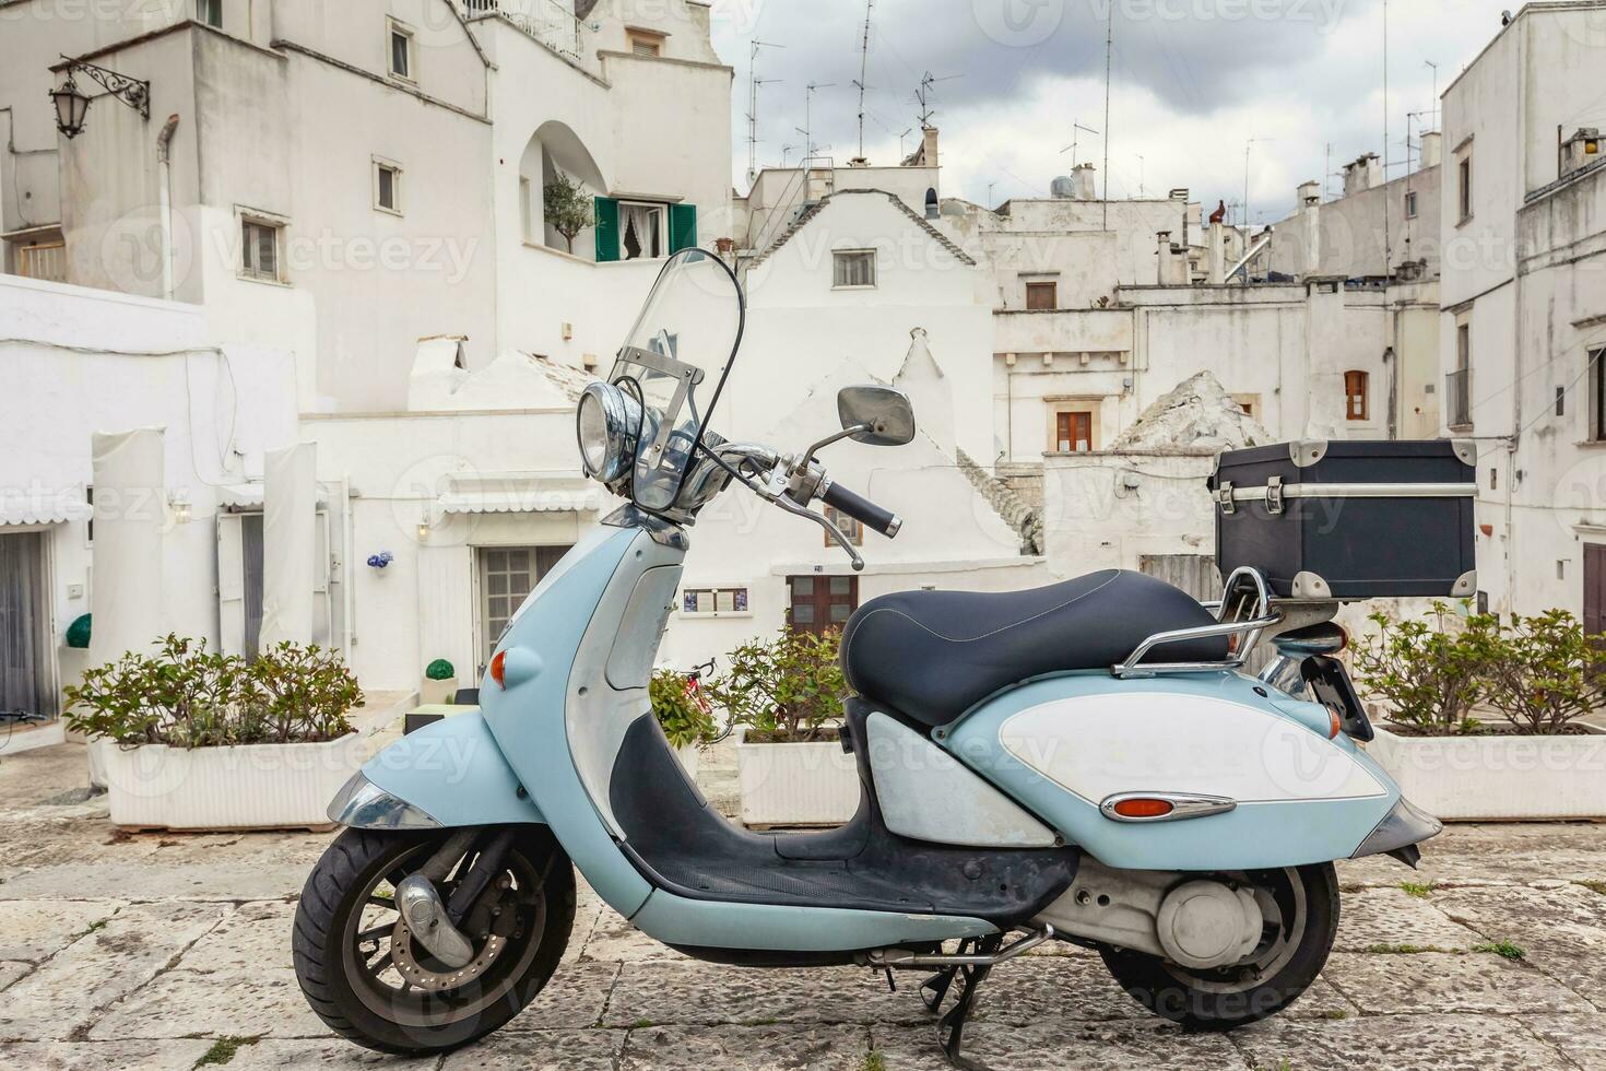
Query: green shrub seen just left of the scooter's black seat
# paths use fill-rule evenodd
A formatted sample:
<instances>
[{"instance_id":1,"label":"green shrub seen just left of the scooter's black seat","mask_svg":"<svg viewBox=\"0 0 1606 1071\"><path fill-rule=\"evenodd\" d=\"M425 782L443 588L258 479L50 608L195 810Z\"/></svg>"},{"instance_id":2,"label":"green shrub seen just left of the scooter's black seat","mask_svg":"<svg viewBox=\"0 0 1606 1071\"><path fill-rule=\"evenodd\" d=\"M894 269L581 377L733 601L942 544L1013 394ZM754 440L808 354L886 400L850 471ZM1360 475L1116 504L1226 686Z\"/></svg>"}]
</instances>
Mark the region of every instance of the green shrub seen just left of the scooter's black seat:
<instances>
[{"instance_id":1,"label":"green shrub seen just left of the scooter's black seat","mask_svg":"<svg viewBox=\"0 0 1606 1071\"><path fill-rule=\"evenodd\" d=\"M782 628L731 652L726 671L708 682L708 698L766 743L829 740L842 719L848 682L837 658L842 633Z\"/></svg>"}]
</instances>

